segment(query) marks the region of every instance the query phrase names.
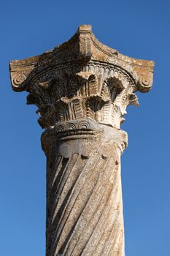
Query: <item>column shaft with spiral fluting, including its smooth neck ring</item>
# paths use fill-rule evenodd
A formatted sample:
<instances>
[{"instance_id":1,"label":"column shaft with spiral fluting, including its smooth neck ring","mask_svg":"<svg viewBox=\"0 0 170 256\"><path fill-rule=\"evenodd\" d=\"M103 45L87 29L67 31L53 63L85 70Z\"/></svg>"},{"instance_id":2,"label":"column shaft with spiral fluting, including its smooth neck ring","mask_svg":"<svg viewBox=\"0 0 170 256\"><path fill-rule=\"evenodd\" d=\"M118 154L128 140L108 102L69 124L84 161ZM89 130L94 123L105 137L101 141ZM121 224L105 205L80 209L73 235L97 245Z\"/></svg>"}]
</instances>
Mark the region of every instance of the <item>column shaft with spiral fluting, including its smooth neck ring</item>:
<instances>
[{"instance_id":1,"label":"column shaft with spiral fluting, including its smooth neck ring","mask_svg":"<svg viewBox=\"0 0 170 256\"><path fill-rule=\"evenodd\" d=\"M87 120L56 124L44 133L46 256L124 256L120 154L125 140L125 132Z\"/></svg>"}]
</instances>

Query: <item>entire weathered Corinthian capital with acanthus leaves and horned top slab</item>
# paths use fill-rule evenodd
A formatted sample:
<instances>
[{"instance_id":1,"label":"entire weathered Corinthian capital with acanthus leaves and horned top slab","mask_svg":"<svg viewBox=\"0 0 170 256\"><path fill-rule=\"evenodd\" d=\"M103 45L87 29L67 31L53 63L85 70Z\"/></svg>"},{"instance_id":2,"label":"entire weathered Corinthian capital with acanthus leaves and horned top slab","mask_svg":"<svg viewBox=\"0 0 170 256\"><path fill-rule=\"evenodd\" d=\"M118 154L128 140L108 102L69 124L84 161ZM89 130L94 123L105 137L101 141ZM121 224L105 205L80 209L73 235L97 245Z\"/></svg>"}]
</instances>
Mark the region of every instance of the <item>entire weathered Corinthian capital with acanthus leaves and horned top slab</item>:
<instances>
[{"instance_id":1,"label":"entire weathered Corinthian capital with acanthus leaves and horned top slab","mask_svg":"<svg viewBox=\"0 0 170 256\"><path fill-rule=\"evenodd\" d=\"M120 128L135 92L150 91L153 62L133 59L98 42L91 26L40 56L10 62L12 89L28 91L42 128L90 119Z\"/></svg>"}]
</instances>

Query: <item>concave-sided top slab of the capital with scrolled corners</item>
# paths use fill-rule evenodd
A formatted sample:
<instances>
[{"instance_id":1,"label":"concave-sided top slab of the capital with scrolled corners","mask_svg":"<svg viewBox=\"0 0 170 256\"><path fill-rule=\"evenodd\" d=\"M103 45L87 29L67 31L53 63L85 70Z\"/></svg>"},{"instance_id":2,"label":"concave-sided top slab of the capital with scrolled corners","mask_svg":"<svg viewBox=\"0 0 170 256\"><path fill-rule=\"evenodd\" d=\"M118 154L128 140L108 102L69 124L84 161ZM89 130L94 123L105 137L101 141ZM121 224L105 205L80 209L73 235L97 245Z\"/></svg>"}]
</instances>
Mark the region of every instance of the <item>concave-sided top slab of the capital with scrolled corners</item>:
<instances>
[{"instance_id":1,"label":"concave-sided top slab of the capital with scrolled corners","mask_svg":"<svg viewBox=\"0 0 170 256\"><path fill-rule=\"evenodd\" d=\"M12 88L26 90L26 85L37 73L72 61L100 61L120 67L136 81L139 91L147 92L152 86L153 61L133 59L103 45L92 33L91 26L83 25L77 33L53 50L9 64Z\"/></svg>"}]
</instances>

